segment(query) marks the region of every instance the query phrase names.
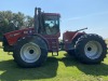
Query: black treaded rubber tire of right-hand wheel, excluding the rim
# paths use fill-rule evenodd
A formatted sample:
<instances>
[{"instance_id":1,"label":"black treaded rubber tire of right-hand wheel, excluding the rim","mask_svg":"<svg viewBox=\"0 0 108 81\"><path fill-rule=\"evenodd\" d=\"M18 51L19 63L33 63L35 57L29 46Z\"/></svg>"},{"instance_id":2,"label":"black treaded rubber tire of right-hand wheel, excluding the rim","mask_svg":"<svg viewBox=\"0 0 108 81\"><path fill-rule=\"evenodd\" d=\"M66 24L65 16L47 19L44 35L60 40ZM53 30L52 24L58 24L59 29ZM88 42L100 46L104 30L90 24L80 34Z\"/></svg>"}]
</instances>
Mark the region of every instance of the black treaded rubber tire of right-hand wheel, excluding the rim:
<instances>
[{"instance_id":1,"label":"black treaded rubber tire of right-hand wheel, excluding the rim","mask_svg":"<svg viewBox=\"0 0 108 81\"><path fill-rule=\"evenodd\" d=\"M83 45L86 43L86 41L91 41L91 40L98 41L103 48L103 54L96 59L91 59L84 55L84 50L83 50L84 46ZM76 42L76 57L81 63L98 64L104 60L104 58L106 57L106 54L107 54L107 44L105 43L105 40L98 35L94 35L94 33L83 35Z\"/></svg>"}]
</instances>

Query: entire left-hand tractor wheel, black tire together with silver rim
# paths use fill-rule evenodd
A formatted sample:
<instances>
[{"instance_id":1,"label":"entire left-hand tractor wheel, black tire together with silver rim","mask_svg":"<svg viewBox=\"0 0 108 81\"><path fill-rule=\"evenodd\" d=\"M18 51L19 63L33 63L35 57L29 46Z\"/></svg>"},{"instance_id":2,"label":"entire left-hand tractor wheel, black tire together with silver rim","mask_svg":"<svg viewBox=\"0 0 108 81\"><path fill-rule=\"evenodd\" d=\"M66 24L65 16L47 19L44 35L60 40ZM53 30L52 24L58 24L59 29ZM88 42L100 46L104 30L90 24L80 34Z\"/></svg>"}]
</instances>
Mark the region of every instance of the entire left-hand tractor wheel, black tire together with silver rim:
<instances>
[{"instance_id":1,"label":"entire left-hand tractor wheel, black tire together with silver rim","mask_svg":"<svg viewBox=\"0 0 108 81\"><path fill-rule=\"evenodd\" d=\"M41 66L48 57L48 49L42 49L36 40L23 39L14 48L13 57L18 66L32 68Z\"/></svg>"}]
</instances>

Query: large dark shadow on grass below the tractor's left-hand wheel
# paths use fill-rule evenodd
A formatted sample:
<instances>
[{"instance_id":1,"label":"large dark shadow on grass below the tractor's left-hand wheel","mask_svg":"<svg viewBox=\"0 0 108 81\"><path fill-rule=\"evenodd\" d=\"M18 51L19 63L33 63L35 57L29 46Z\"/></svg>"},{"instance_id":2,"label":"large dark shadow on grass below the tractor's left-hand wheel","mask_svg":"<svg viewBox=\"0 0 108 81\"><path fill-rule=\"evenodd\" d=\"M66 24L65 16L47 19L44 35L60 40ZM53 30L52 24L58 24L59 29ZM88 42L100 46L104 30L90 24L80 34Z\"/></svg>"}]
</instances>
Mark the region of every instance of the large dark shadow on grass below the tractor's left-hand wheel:
<instances>
[{"instance_id":1,"label":"large dark shadow on grass below the tractor's left-hand wheel","mask_svg":"<svg viewBox=\"0 0 108 81\"><path fill-rule=\"evenodd\" d=\"M39 80L56 77L58 62L55 57L49 57L46 63L38 68L21 68L13 59L0 62L0 81Z\"/></svg>"}]
</instances>

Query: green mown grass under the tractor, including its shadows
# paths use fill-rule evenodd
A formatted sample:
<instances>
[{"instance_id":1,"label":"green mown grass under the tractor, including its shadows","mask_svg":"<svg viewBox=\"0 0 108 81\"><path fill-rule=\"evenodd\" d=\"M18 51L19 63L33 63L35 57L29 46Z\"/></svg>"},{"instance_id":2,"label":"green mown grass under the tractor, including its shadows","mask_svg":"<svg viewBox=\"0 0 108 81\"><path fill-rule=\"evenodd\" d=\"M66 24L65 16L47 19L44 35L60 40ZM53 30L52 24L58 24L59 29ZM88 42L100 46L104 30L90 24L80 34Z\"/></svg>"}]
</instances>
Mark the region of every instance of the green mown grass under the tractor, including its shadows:
<instances>
[{"instance_id":1,"label":"green mown grass under the tractor, including its shadows","mask_svg":"<svg viewBox=\"0 0 108 81\"><path fill-rule=\"evenodd\" d=\"M0 81L108 81L108 57L100 65L84 65L62 51L49 54L41 67L21 68L0 49Z\"/></svg>"}]
</instances>

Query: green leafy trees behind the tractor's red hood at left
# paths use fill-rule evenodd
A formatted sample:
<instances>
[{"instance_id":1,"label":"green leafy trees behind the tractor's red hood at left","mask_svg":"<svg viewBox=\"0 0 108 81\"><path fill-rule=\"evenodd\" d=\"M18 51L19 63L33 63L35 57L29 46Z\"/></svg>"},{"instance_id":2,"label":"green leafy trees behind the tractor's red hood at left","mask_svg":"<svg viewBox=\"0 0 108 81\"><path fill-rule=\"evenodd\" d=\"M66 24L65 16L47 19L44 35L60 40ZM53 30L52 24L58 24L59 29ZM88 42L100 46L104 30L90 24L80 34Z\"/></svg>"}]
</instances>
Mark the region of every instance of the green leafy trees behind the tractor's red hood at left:
<instances>
[{"instance_id":1,"label":"green leafy trees behind the tractor's red hood at left","mask_svg":"<svg viewBox=\"0 0 108 81\"><path fill-rule=\"evenodd\" d=\"M3 33L33 26L33 17L22 12L0 11L0 38Z\"/></svg>"}]
</instances>

